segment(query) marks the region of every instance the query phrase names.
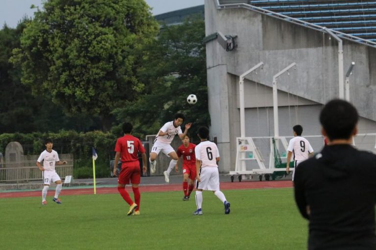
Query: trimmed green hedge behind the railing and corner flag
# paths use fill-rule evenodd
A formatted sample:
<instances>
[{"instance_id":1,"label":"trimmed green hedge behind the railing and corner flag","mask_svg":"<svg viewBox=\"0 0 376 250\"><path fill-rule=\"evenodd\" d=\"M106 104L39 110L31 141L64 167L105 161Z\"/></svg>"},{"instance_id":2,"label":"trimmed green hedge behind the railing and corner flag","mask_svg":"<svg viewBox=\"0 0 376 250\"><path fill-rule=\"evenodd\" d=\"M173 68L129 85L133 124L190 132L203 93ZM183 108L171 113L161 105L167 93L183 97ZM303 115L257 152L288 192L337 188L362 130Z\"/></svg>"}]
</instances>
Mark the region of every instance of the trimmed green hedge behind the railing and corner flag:
<instances>
[{"instance_id":1,"label":"trimmed green hedge behind the railing and corner flag","mask_svg":"<svg viewBox=\"0 0 376 250\"><path fill-rule=\"evenodd\" d=\"M53 140L53 148L59 154L73 154L74 178L93 178L92 147L98 155L95 161L95 177L110 177L110 160L114 158L117 139L112 133L62 130L59 133L1 134L0 152L4 153L9 142L18 141L24 147L25 155L39 155L46 149L44 140L47 137Z\"/></svg>"}]
</instances>

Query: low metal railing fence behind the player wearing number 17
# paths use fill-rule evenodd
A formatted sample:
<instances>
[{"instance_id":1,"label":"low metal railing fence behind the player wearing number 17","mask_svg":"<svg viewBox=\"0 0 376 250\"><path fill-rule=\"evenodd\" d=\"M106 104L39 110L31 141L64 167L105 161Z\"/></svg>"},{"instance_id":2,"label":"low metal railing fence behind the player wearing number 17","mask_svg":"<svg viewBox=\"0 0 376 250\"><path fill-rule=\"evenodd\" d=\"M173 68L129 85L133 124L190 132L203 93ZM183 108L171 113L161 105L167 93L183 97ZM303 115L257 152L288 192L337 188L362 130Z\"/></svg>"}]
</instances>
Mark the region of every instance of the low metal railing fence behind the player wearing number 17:
<instances>
[{"instance_id":1,"label":"low metal railing fence behind the player wearing number 17","mask_svg":"<svg viewBox=\"0 0 376 250\"><path fill-rule=\"evenodd\" d=\"M0 182L27 182L42 180L42 172L36 166L38 155L24 156L21 161L2 162L0 165ZM71 154L62 154L61 160L66 160L66 165L56 165L55 170L64 178L67 175L73 175L73 156Z\"/></svg>"}]
</instances>

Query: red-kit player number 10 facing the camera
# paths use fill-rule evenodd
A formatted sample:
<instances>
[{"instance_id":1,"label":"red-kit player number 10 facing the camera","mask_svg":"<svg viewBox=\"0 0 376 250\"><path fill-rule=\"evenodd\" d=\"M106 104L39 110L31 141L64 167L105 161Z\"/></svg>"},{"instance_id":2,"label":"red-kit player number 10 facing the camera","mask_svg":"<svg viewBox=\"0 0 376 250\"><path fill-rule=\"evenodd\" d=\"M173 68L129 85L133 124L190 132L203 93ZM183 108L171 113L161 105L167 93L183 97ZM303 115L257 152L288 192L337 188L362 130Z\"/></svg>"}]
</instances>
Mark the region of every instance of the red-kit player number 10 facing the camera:
<instances>
[{"instance_id":1,"label":"red-kit player number 10 facing the camera","mask_svg":"<svg viewBox=\"0 0 376 250\"><path fill-rule=\"evenodd\" d=\"M176 152L178 155L178 161L176 162L175 170L178 172L178 163L180 157L183 156L183 201L188 201L190 193L192 192L194 187L194 180L196 179L196 157L194 155L194 148L196 147L196 145L189 142L188 136L184 136L184 139L182 141L183 144L178 148L178 151Z\"/></svg>"}]
</instances>

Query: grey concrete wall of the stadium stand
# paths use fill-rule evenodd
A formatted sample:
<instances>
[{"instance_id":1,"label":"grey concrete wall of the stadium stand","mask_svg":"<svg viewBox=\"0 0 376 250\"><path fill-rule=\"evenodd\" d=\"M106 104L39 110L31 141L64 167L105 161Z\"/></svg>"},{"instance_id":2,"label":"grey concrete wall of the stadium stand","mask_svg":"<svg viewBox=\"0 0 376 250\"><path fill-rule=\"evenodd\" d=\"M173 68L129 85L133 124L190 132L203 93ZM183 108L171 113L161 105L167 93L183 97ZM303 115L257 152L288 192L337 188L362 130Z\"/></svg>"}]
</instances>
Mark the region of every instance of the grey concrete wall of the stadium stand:
<instances>
[{"instance_id":1,"label":"grey concrete wall of the stadium stand","mask_svg":"<svg viewBox=\"0 0 376 250\"><path fill-rule=\"evenodd\" d=\"M287 93L299 97L294 105L325 104L338 96L338 46L327 34L248 9L218 10L214 0L205 0L205 26L206 35L220 31L238 36L233 51L216 40L206 45L211 136L217 137L222 156L220 171L235 165L234 140L240 134L238 76L249 68L264 63L258 74L246 77L245 108L272 106L271 92L256 94L255 83L272 87L273 75L293 62L296 70L278 78L281 106L288 102ZM345 72L351 62L355 62L351 101L370 121L366 127L371 131L376 120L376 49L344 41Z\"/></svg>"}]
</instances>

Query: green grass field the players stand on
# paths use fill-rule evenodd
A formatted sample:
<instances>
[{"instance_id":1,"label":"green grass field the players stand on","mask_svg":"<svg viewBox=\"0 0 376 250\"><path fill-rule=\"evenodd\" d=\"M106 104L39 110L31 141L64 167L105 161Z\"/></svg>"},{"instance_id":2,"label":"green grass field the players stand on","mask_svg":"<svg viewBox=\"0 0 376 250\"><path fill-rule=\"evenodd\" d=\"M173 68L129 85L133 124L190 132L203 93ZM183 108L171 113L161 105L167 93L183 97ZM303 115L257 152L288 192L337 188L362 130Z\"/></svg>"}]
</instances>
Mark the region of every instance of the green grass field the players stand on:
<instances>
[{"instance_id":1,"label":"green grass field the players stand on","mask_svg":"<svg viewBox=\"0 0 376 250\"><path fill-rule=\"evenodd\" d=\"M120 195L0 199L1 249L302 250L307 222L291 188L225 190L231 213L204 191L202 216L182 192L141 193L141 215ZM191 196L194 198L194 193Z\"/></svg>"}]
</instances>

